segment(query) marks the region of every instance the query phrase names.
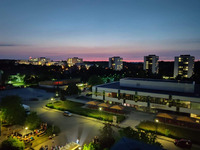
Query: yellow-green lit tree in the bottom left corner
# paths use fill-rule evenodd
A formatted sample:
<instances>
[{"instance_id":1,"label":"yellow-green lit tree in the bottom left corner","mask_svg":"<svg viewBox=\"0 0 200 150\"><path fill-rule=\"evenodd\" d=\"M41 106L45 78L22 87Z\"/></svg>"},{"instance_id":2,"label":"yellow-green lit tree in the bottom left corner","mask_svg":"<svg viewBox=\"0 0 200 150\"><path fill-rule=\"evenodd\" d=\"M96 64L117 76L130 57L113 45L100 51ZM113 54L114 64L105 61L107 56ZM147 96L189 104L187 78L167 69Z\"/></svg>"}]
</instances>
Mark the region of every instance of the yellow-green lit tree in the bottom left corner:
<instances>
[{"instance_id":1,"label":"yellow-green lit tree in the bottom left corner","mask_svg":"<svg viewBox=\"0 0 200 150\"><path fill-rule=\"evenodd\" d=\"M2 142L2 150L24 150L25 144L17 138L9 137L7 140Z\"/></svg>"}]
</instances>

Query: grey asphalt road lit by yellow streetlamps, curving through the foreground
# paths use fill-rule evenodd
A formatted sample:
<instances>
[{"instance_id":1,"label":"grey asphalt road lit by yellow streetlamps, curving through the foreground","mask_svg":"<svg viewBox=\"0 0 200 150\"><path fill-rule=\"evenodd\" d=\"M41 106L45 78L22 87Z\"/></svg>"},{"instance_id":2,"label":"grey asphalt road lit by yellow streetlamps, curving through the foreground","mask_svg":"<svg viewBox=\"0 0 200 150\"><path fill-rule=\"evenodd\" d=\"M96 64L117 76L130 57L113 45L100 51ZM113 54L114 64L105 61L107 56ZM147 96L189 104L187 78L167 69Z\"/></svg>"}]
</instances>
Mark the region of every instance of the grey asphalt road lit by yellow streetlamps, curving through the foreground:
<instances>
[{"instance_id":1,"label":"grey asphalt road lit by yellow streetlamps, curving through the foreground","mask_svg":"<svg viewBox=\"0 0 200 150\"><path fill-rule=\"evenodd\" d=\"M63 116L62 112L52 109L43 108L48 101L26 101L25 104L31 107L31 111L36 111L41 119L50 124L59 126L61 133L55 138L56 145L65 145L66 143L76 141L80 139L80 145L83 143L89 143L91 139L99 134L99 129L103 127L103 123L100 121L94 121L73 115L72 117ZM158 136L158 142L160 142L165 149L168 150L182 150L174 145L173 139ZM55 145L55 143L53 143ZM51 142L41 144L35 149L39 149L42 145L53 145ZM191 150L198 150L199 146L193 145Z\"/></svg>"}]
</instances>

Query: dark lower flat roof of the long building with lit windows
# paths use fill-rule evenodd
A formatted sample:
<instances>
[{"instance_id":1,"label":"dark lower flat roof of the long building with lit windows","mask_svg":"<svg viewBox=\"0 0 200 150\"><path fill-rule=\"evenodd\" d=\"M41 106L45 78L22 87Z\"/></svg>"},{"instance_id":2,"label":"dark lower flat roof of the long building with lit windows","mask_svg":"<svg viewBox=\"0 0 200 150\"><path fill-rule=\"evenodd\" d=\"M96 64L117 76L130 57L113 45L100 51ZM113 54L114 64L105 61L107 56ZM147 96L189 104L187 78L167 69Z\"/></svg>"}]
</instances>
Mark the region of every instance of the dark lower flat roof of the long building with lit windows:
<instances>
[{"instance_id":1,"label":"dark lower flat roof of the long building with lit windows","mask_svg":"<svg viewBox=\"0 0 200 150\"><path fill-rule=\"evenodd\" d=\"M145 89L145 88L124 87L124 86L120 86L119 81L97 85L96 87L200 98L200 95L198 93L185 93L185 92L176 92L176 91L164 91L164 90L154 90L154 89Z\"/></svg>"}]
</instances>

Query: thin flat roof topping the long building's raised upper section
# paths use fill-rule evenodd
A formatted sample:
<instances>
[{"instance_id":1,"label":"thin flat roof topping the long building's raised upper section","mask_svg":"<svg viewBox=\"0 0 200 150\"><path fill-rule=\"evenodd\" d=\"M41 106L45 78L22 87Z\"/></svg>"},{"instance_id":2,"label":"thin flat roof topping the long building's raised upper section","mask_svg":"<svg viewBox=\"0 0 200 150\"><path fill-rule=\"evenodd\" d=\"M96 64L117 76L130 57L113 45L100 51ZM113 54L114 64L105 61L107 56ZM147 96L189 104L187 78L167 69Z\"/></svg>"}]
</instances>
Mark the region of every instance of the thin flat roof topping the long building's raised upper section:
<instances>
[{"instance_id":1,"label":"thin flat roof topping the long building's raised upper section","mask_svg":"<svg viewBox=\"0 0 200 150\"><path fill-rule=\"evenodd\" d=\"M154 82L172 82L172 83L193 84L193 81L180 81L180 80L149 79L149 78L122 78L122 79L123 80L138 80L138 81L154 81Z\"/></svg>"}]
</instances>

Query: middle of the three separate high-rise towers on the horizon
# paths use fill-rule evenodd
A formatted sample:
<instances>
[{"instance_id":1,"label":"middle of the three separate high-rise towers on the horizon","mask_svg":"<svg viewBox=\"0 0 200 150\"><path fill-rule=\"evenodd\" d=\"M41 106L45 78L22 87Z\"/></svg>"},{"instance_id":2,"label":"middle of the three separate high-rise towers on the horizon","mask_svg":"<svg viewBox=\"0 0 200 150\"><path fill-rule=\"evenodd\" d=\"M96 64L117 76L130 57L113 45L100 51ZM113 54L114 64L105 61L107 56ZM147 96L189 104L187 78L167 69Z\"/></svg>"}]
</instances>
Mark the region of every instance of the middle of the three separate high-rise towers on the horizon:
<instances>
[{"instance_id":1,"label":"middle of the three separate high-rise towers on the horizon","mask_svg":"<svg viewBox=\"0 0 200 150\"><path fill-rule=\"evenodd\" d=\"M156 55L144 56L144 66L143 69L149 73L158 73L158 60L159 57Z\"/></svg>"}]
</instances>

